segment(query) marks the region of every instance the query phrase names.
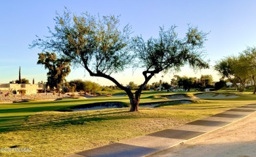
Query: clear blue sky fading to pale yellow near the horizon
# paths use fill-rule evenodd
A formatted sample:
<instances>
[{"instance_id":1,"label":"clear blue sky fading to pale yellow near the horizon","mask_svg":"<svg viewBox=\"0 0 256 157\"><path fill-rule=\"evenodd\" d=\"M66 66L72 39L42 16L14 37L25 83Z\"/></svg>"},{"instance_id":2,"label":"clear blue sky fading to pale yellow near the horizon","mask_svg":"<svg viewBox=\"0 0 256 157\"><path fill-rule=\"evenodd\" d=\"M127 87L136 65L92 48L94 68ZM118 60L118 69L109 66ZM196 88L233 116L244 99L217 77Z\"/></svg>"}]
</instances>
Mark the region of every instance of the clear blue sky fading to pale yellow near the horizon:
<instances>
[{"instance_id":1,"label":"clear blue sky fading to pale yellow near the horizon","mask_svg":"<svg viewBox=\"0 0 256 157\"><path fill-rule=\"evenodd\" d=\"M256 46L256 1L240 0L1 0L0 1L0 83L7 83L18 79L18 69L21 66L22 78L32 82L46 81L47 71L37 65L37 48L30 50L28 44L35 39L35 35L43 37L49 35L47 26L54 27L55 12L62 14L64 7L80 14L121 15L121 25L131 24L133 35L142 35L145 39L158 37L159 26L178 26L177 32L184 37L187 24L198 26L205 32L210 32L205 43L207 57L211 65L224 56L237 55L247 46ZM213 75L215 80L219 76L212 69L194 73L188 67L182 68L178 75L200 77ZM150 82L161 79L159 74ZM129 81L142 83L141 70L132 73L114 75L121 83ZM163 81L170 81L173 73L164 76ZM100 84L112 84L105 79L89 77L84 69L72 69L67 80L93 80Z\"/></svg>"}]
</instances>

